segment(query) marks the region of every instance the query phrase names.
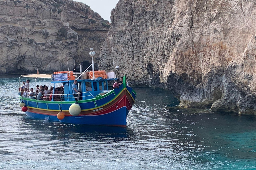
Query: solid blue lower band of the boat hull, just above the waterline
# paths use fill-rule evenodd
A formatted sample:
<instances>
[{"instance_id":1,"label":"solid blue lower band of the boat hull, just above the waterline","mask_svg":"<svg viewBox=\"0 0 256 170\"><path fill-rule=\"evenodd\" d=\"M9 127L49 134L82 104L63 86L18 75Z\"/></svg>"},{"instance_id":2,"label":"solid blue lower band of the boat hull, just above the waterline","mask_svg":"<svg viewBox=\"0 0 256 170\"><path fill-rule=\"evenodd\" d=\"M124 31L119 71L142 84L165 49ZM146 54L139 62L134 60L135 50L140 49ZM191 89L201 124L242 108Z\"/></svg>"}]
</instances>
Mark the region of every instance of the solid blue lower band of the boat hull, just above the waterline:
<instances>
[{"instance_id":1,"label":"solid blue lower band of the boat hull, just above the waterline","mask_svg":"<svg viewBox=\"0 0 256 170\"><path fill-rule=\"evenodd\" d=\"M126 127L126 116L129 110L124 106L113 112L97 115L97 116L65 116L61 122L81 125L107 125ZM26 115L31 118L45 119L50 121L60 121L57 116L39 114L34 112L26 112Z\"/></svg>"}]
</instances>

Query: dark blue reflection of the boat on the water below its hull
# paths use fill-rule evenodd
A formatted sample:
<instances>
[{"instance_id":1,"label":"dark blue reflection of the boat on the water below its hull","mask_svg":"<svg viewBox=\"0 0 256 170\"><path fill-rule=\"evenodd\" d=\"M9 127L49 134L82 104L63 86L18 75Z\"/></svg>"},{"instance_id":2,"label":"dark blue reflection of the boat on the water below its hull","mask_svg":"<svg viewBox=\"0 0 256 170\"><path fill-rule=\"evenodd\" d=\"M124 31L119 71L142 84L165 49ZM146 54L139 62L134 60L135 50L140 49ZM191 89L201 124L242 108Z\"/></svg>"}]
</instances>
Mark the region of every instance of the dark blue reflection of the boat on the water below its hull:
<instances>
[{"instance_id":1,"label":"dark blue reflection of the boat on the water below its hull","mask_svg":"<svg viewBox=\"0 0 256 170\"><path fill-rule=\"evenodd\" d=\"M22 119L24 127L46 133L51 139L81 139L98 140L102 138L113 138L114 140L128 139L133 136L133 129L113 126L96 125L74 125L62 122L52 122L48 120L33 119L24 117Z\"/></svg>"}]
</instances>

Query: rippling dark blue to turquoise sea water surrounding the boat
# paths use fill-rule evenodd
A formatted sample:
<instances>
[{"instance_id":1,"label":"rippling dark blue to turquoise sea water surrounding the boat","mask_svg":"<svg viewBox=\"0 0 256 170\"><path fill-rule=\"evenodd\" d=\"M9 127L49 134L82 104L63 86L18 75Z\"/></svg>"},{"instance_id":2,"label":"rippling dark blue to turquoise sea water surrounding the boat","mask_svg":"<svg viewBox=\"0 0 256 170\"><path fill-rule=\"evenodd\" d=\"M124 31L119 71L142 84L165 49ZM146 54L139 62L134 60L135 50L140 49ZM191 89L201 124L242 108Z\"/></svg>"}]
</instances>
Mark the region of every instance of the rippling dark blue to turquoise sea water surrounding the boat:
<instances>
[{"instance_id":1,"label":"rippling dark blue to turquoise sea water surrounding the boat","mask_svg":"<svg viewBox=\"0 0 256 170\"><path fill-rule=\"evenodd\" d=\"M256 169L255 116L178 108L168 91L135 88L127 128L69 125L26 117L18 77L0 86L0 169Z\"/></svg>"}]
</instances>

